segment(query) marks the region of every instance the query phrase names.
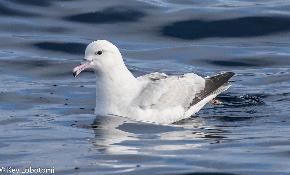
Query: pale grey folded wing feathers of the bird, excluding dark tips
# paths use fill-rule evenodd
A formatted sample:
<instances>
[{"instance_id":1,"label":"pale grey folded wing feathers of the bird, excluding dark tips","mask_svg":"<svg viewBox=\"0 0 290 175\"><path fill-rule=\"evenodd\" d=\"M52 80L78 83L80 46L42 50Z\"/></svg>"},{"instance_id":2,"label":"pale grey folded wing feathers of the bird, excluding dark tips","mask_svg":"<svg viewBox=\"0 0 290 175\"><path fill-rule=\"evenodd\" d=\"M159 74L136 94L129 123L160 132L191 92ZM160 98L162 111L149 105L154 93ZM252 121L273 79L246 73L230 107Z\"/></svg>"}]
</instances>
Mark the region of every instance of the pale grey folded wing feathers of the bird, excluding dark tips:
<instances>
[{"instance_id":1,"label":"pale grey folded wing feathers of the bird, excluding dark tips","mask_svg":"<svg viewBox=\"0 0 290 175\"><path fill-rule=\"evenodd\" d=\"M142 93L134 100L134 104L145 109L164 109L177 106L187 109L196 94L205 87L205 80L194 73L182 76L152 73L137 79L143 82L149 81Z\"/></svg>"}]
</instances>

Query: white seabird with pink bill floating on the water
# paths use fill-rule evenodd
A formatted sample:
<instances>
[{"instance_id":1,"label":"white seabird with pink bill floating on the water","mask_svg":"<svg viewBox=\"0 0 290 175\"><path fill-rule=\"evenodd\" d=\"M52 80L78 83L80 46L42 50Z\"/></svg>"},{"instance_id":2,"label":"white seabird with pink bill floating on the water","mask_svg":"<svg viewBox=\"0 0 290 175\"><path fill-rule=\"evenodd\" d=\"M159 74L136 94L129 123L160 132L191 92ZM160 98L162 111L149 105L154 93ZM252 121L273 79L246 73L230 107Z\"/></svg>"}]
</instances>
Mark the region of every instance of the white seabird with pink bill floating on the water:
<instances>
[{"instance_id":1,"label":"white seabird with pink bill floating on the water","mask_svg":"<svg viewBox=\"0 0 290 175\"><path fill-rule=\"evenodd\" d=\"M86 48L84 60L73 69L77 76L86 68L96 75L95 114L171 124L188 118L209 100L228 89L233 72L200 77L194 73L168 76L149 73L135 78L125 66L119 49L106 40Z\"/></svg>"}]
</instances>

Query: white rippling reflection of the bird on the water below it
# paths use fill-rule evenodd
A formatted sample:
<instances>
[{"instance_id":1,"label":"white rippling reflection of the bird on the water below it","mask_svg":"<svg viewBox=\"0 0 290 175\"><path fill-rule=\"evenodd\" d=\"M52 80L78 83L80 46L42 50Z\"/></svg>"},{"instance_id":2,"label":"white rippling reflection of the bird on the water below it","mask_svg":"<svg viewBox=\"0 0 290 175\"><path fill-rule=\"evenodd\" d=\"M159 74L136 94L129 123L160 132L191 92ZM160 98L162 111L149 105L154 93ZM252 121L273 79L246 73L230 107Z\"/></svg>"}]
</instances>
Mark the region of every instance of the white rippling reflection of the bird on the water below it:
<instances>
[{"instance_id":1,"label":"white rippling reflection of the bird on the water below it","mask_svg":"<svg viewBox=\"0 0 290 175\"><path fill-rule=\"evenodd\" d=\"M96 116L90 125L73 125L93 129L95 136L89 142L90 151L102 154L152 154L156 150L190 149L219 143L226 136L221 129L204 129L194 126L164 125L138 121L130 118L102 115ZM200 140L206 141L200 141Z\"/></svg>"}]
</instances>

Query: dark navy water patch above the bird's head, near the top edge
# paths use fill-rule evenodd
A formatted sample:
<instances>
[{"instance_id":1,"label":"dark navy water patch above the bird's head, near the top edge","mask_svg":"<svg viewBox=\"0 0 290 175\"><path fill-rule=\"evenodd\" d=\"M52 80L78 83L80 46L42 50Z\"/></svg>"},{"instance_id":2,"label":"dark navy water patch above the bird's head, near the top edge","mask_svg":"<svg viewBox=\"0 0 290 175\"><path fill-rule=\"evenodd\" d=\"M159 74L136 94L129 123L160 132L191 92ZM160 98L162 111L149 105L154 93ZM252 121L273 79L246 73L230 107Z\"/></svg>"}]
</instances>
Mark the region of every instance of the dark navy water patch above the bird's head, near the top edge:
<instances>
[{"instance_id":1,"label":"dark navy water patch above the bird's head, near the top edge","mask_svg":"<svg viewBox=\"0 0 290 175\"><path fill-rule=\"evenodd\" d=\"M64 19L73 22L84 23L116 23L116 22L136 22L146 14L137 10L132 10L127 6L118 8L110 7L99 12L82 13Z\"/></svg>"}]
</instances>

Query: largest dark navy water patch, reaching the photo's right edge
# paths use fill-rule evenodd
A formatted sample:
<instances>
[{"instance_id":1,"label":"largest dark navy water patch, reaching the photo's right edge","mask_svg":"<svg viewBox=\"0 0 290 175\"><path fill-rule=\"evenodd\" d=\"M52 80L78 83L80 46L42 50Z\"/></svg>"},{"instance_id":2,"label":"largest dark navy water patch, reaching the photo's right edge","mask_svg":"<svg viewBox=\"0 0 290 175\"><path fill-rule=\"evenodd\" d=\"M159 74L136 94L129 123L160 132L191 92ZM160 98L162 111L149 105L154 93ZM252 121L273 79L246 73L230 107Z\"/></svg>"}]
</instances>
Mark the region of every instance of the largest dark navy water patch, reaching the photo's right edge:
<instances>
[{"instance_id":1,"label":"largest dark navy water patch, reaching the photo's right edge","mask_svg":"<svg viewBox=\"0 0 290 175\"><path fill-rule=\"evenodd\" d=\"M290 30L287 17L242 17L218 21L189 20L165 26L164 36L182 39L252 37Z\"/></svg>"}]
</instances>

